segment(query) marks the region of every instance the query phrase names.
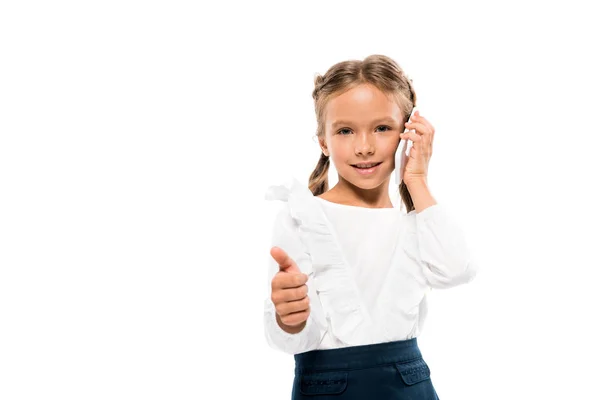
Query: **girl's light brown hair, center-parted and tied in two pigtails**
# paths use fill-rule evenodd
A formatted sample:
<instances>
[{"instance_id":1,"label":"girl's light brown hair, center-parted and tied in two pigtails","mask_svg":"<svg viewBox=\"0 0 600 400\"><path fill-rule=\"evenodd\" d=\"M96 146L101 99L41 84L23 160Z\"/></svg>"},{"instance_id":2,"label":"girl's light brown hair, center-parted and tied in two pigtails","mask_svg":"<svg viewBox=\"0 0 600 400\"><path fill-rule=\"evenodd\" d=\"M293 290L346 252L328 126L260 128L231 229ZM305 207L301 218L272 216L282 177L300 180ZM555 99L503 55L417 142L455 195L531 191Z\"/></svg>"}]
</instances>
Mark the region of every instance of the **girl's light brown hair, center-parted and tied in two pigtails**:
<instances>
[{"instance_id":1,"label":"girl's light brown hair, center-parted and tied in two pigtails","mask_svg":"<svg viewBox=\"0 0 600 400\"><path fill-rule=\"evenodd\" d=\"M374 54L362 61L342 61L329 68L325 75L315 77L312 96L315 101L319 141L325 139L324 114L327 102L332 97L364 83L375 86L396 100L404 116L401 127L404 126L404 122L408 121L413 107L416 106L417 95L412 86L412 79L404 74L402 68L394 60ZM308 180L308 187L313 195L318 196L329 190L328 171L329 156L321 152L317 166ZM413 200L404 182L400 184L398 190L407 212L414 210Z\"/></svg>"}]
</instances>

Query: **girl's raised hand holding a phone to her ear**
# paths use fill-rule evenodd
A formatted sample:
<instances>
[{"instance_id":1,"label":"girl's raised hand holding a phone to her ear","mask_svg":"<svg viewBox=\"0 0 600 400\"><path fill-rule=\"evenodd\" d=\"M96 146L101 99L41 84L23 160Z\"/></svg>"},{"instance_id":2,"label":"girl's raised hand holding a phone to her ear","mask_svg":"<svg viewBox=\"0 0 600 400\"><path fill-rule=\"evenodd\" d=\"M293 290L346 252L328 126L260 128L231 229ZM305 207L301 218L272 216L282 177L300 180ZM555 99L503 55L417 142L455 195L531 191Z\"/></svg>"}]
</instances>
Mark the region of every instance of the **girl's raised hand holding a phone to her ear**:
<instances>
[{"instance_id":1,"label":"girl's raised hand holding a phone to her ear","mask_svg":"<svg viewBox=\"0 0 600 400\"><path fill-rule=\"evenodd\" d=\"M408 139L413 142L402 180L407 186L411 182L419 180L427 183L427 168L431 159L435 129L429 121L421 116L418 110L406 123L405 128L414 129L416 132L408 131L400 134L401 139Z\"/></svg>"}]
</instances>

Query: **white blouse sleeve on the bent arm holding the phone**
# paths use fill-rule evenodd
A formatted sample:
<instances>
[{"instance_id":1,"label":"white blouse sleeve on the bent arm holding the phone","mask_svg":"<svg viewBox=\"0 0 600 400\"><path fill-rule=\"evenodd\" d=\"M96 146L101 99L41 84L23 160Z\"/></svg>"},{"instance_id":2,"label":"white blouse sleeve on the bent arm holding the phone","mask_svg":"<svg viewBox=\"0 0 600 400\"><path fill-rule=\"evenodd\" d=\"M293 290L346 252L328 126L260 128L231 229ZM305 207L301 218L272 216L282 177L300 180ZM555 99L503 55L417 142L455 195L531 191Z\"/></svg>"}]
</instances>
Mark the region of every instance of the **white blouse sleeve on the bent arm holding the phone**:
<instances>
[{"instance_id":1,"label":"white blouse sleeve on the bent arm holding the phone","mask_svg":"<svg viewBox=\"0 0 600 400\"><path fill-rule=\"evenodd\" d=\"M419 258L433 288L446 289L473 280L478 264L460 225L439 204L416 214Z\"/></svg>"}]
</instances>

